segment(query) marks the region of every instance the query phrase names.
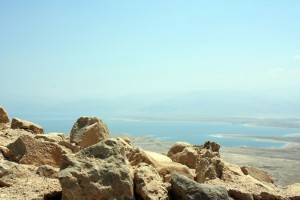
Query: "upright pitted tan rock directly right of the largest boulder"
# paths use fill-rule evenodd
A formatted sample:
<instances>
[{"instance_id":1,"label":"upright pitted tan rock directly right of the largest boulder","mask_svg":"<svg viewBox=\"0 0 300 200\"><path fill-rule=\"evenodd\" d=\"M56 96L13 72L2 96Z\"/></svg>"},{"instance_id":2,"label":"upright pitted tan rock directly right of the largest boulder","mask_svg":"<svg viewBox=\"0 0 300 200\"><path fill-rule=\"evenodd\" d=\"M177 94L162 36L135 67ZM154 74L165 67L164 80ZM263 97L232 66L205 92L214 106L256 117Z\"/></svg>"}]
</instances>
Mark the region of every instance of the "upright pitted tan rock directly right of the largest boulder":
<instances>
[{"instance_id":1,"label":"upright pitted tan rock directly right of the largest boulder","mask_svg":"<svg viewBox=\"0 0 300 200\"><path fill-rule=\"evenodd\" d=\"M151 165L139 164L134 173L134 185L137 199L169 199L166 185Z\"/></svg>"}]
</instances>

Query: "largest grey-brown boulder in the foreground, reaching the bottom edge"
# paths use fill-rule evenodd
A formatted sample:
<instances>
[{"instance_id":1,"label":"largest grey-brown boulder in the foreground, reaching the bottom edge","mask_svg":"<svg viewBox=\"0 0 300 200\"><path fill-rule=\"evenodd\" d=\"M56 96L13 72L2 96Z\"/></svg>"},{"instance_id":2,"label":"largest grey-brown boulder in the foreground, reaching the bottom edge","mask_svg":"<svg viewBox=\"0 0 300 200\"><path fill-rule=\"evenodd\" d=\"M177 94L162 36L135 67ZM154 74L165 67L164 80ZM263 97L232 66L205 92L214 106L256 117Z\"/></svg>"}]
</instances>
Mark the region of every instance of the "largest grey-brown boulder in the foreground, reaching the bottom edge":
<instances>
[{"instance_id":1,"label":"largest grey-brown boulder in the foreground, reaching the bottom edge","mask_svg":"<svg viewBox=\"0 0 300 200\"><path fill-rule=\"evenodd\" d=\"M64 155L59 172L62 199L134 199L130 168L116 139Z\"/></svg>"}]
</instances>

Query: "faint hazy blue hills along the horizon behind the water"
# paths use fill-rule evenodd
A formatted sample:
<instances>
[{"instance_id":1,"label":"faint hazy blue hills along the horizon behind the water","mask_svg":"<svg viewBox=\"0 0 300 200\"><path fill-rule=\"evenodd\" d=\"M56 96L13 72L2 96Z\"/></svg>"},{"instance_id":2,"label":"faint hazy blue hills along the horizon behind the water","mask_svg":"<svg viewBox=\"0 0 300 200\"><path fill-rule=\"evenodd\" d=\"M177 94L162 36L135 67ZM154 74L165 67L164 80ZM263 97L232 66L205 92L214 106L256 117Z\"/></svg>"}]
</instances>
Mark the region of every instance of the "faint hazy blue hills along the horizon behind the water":
<instances>
[{"instance_id":1,"label":"faint hazy blue hills along the horizon behind the water","mask_svg":"<svg viewBox=\"0 0 300 200\"><path fill-rule=\"evenodd\" d=\"M119 116L300 116L300 95L282 91L195 91L65 100L1 97L0 105L19 117Z\"/></svg>"}]
</instances>

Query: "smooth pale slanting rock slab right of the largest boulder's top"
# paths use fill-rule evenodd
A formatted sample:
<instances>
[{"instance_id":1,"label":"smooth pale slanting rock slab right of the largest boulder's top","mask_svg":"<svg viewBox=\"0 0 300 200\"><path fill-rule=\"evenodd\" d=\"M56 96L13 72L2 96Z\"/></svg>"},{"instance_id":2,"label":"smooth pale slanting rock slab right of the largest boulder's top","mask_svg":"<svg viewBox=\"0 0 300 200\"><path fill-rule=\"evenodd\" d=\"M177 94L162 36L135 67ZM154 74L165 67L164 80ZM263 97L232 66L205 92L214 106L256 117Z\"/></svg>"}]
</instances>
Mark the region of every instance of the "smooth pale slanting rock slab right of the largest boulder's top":
<instances>
[{"instance_id":1,"label":"smooth pale slanting rock slab right of the largest boulder's top","mask_svg":"<svg viewBox=\"0 0 300 200\"><path fill-rule=\"evenodd\" d=\"M128 156L128 160L132 166L138 166L142 162L153 166L164 182L170 182L171 175L175 173L182 174L190 179L195 177L194 171L187 166L172 162L169 157L162 154L144 151L141 148L135 148Z\"/></svg>"}]
</instances>

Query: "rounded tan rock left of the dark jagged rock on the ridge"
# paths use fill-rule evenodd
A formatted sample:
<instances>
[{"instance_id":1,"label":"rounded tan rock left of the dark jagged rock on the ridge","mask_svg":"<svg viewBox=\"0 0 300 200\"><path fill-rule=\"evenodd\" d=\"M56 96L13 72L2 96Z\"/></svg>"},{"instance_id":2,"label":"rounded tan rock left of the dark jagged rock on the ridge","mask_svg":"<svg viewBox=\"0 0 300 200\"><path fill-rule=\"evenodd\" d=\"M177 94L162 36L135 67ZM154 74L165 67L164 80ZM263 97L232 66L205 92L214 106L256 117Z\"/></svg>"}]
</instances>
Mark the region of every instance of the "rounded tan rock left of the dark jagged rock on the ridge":
<instances>
[{"instance_id":1,"label":"rounded tan rock left of the dark jagged rock on the ridge","mask_svg":"<svg viewBox=\"0 0 300 200\"><path fill-rule=\"evenodd\" d=\"M174 162L181 163L189 168L195 169L198 153L191 144L177 142L167 154Z\"/></svg>"}]
</instances>

